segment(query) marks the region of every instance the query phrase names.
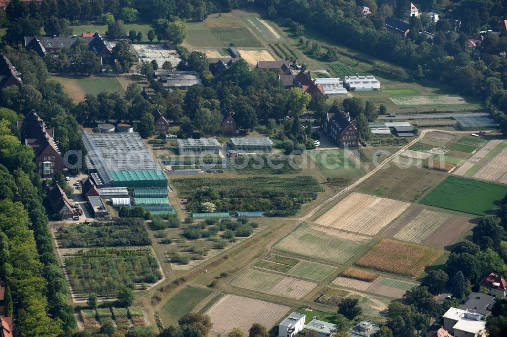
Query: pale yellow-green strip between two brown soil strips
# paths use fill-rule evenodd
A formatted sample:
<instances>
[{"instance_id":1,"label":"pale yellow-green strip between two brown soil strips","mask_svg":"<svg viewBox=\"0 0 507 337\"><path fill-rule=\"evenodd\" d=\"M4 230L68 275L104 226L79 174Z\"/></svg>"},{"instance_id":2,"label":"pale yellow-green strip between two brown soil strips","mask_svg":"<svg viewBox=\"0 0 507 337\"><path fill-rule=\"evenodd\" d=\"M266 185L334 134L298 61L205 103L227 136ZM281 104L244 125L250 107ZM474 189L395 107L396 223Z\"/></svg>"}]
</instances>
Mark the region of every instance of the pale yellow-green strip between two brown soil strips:
<instances>
[{"instance_id":1,"label":"pale yellow-green strip between two brown soil strips","mask_svg":"<svg viewBox=\"0 0 507 337\"><path fill-rule=\"evenodd\" d=\"M421 243L449 218L451 218L451 215L448 213L423 209L412 221L396 233L394 237L403 241Z\"/></svg>"}]
</instances>

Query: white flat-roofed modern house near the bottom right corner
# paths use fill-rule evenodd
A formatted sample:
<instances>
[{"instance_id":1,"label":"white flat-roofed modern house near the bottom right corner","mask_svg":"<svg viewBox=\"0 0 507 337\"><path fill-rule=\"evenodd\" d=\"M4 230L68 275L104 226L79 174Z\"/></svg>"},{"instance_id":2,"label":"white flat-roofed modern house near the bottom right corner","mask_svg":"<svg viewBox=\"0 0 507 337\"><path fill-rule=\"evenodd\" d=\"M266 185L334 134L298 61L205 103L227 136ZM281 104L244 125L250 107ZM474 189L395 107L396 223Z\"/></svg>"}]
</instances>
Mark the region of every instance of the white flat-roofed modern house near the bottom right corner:
<instances>
[{"instance_id":1,"label":"white flat-roofed modern house near the bottom right corner","mask_svg":"<svg viewBox=\"0 0 507 337\"><path fill-rule=\"evenodd\" d=\"M454 337L485 337L485 318L475 310L450 308L444 314L444 329Z\"/></svg>"}]
</instances>

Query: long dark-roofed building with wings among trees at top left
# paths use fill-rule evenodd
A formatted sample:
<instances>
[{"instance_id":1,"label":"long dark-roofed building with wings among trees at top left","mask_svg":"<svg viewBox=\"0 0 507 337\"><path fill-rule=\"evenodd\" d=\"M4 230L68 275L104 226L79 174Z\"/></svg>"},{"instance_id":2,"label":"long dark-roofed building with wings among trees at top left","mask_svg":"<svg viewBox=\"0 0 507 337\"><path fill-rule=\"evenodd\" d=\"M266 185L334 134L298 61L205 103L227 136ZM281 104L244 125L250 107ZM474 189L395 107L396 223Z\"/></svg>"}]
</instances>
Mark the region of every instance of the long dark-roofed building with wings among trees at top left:
<instances>
[{"instance_id":1,"label":"long dark-roofed building with wings among trees at top left","mask_svg":"<svg viewBox=\"0 0 507 337\"><path fill-rule=\"evenodd\" d=\"M46 55L56 54L60 49L69 49L76 40L84 40L89 50L100 57L102 64L114 65L113 48L98 32L93 36L25 36L23 46L26 50L33 50L44 58Z\"/></svg>"}]
</instances>

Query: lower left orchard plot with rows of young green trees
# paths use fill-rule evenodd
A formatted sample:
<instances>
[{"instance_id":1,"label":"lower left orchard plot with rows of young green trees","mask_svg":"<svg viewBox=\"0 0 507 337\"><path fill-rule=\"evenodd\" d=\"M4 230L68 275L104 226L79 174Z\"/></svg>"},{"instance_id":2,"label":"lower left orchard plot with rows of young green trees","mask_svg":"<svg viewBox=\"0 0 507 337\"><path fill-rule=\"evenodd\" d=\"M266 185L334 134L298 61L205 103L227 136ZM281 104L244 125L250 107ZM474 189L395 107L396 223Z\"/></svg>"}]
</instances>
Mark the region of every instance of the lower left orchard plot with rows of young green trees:
<instances>
[{"instance_id":1,"label":"lower left orchard plot with rows of young green trees","mask_svg":"<svg viewBox=\"0 0 507 337\"><path fill-rule=\"evenodd\" d=\"M125 286L136 288L162 278L150 248L93 248L62 251L65 273L77 297L111 296Z\"/></svg>"}]
</instances>

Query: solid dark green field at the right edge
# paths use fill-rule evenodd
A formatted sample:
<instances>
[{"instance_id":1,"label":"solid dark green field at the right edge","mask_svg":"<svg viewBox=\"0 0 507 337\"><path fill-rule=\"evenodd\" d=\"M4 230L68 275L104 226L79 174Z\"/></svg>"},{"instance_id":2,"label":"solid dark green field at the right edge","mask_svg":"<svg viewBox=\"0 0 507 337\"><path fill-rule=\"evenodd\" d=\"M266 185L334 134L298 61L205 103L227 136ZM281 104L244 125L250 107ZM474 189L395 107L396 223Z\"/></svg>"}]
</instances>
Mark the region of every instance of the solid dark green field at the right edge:
<instances>
[{"instance_id":1,"label":"solid dark green field at the right edge","mask_svg":"<svg viewBox=\"0 0 507 337\"><path fill-rule=\"evenodd\" d=\"M449 176L420 203L485 216L500 205L505 193L504 185Z\"/></svg>"}]
</instances>

